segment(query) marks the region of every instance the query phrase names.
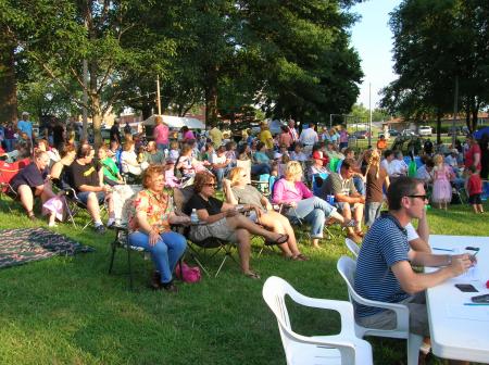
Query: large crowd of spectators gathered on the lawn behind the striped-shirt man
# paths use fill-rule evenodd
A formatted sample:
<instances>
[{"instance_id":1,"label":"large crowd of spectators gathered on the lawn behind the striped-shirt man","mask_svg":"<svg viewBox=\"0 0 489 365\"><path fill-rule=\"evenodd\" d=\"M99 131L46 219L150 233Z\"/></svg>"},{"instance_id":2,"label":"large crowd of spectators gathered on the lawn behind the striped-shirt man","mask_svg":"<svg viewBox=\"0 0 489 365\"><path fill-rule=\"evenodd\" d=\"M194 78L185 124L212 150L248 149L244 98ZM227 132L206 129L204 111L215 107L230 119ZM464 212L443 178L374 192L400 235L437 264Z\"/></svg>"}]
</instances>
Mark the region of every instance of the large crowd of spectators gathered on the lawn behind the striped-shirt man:
<instances>
[{"instance_id":1,"label":"large crowd of spectators gathered on the lawn behind the striped-shirt man","mask_svg":"<svg viewBox=\"0 0 489 365\"><path fill-rule=\"evenodd\" d=\"M291 224L309 224L313 248L321 248L325 225L335 222L346 227L349 238L361 242L362 226L373 225L380 215L389 185L400 177L423 180L434 205L441 209L448 207L452 187L466 186L474 211L482 212L478 176L482 168L481 150L473 138L467 138L462 153L457 149L450 150L448 155L431 151L421 156L419 164L417 156L405 159L401 151L391 151L384 144L380 150L369 148L355 156L355 150L348 147L344 127L317 134L315 126L309 125L299 133L294 122L289 121L273 136L262 123L256 136L247 131L246 138L237 143L223 136L220 126L209 133L183 128L180 138L174 140L162 121L156 118L155 124L154 140L147 144L130 130L121 137L120 130L112 128L110 146L99 147L97 158L87 140L75 142L73 136L66 136L61 142L57 139L54 146L39 139L32 149L33 163L12 181L27 216L35 217L33 203L39 197L49 225L62 221L65 206L52 186L67 186L86 205L96 231L103 234L114 223L112 188L125 184L129 176L136 177L136 184L142 184L143 190L136 199L139 205L135 206L130 237L136 246L150 247L155 255L160 276L153 280L154 286L173 290L168 273L161 268L174 267L175 257L185 246L175 243L179 242L176 236L167 235L166 223L185 223L187 218L177 218L165 207L162 216L166 223L159 223L153 230L148 228L156 216L153 210L163 210L167 201L161 191L162 184L175 189L192 186L195 194L184 212L188 216L195 209L205 224L192 226L189 238L217 237L236 242L241 269L253 278L259 275L250 268L250 235L276 243L283 255L293 261L308 257L299 249ZM33 141L28 136L26 140ZM15 148L22 150L22 143ZM28 151L24 153L29 155ZM469 179L465 179L464 169ZM250 179L261 176L274 178L273 186L268 181L266 196L263 185L249 185ZM224 201L215 198L216 190L224 190ZM105 224L102 205L109 213Z\"/></svg>"}]
</instances>

